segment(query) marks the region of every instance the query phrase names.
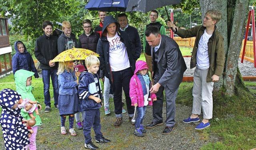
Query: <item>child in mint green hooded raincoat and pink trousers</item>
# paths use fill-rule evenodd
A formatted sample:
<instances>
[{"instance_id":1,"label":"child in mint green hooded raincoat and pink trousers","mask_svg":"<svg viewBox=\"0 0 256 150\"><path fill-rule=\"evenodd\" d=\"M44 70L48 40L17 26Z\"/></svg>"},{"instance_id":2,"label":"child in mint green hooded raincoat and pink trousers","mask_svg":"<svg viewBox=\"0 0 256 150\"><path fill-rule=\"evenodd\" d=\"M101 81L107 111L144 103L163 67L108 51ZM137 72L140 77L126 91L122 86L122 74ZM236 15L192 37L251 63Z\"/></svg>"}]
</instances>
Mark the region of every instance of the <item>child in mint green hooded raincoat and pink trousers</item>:
<instances>
[{"instance_id":1,"label":"child in mint green hooded raincoat and pink trousers","mask_svg":"<svg viewBox=\"0 0 256 150\"><path fill-rule=\"evenodd\" d=\"M14 74L16 91L21 95L22 99L29 98L32 101L36 101L36 99L34 98L34 95L31 92L32 91L31 79L33 75L34 75L34 72L23 70L23 69L16 71L16 73ZM36 102L37 102L38 109L41 110L42 107L40 103L38 101ZM31 119L28 112L24 108L21 110L20 114L25 120ZM33 112L33 115L36 116L35 118L36 124L32 127L32 130L34 131L34 133L31 134L31 137L29 139L30 144L25 147L26 149L29 147L30 150L36 150L36 133L37 133L38 126L42 124L40 116L37 115L35 111Z\"/></svg>"}]
</instances>

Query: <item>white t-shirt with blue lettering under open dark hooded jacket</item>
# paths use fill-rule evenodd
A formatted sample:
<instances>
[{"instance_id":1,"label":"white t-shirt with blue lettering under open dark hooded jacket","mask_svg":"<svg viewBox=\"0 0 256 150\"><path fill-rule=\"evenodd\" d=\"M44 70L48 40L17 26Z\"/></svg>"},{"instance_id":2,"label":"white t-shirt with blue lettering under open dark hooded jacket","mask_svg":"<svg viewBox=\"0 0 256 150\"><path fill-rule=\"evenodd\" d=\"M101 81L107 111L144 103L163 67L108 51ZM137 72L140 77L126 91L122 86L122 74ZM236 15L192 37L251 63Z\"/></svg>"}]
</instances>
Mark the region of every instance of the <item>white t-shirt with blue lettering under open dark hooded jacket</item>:
<instances>
[{"instance_id":1,"label":"white t-shirt with blue lettering under open dark hooded jacket","mask_svg":"<svg viewBox=\"0 0 256 150\"><path fill-rule=\"evenodd\" d=\"M108 37L108 35L107 35ZM109 42L109 63L112 71L120 71L130 67L126 46L120 41L117 32Z\"/></svg>"}]
</instances>

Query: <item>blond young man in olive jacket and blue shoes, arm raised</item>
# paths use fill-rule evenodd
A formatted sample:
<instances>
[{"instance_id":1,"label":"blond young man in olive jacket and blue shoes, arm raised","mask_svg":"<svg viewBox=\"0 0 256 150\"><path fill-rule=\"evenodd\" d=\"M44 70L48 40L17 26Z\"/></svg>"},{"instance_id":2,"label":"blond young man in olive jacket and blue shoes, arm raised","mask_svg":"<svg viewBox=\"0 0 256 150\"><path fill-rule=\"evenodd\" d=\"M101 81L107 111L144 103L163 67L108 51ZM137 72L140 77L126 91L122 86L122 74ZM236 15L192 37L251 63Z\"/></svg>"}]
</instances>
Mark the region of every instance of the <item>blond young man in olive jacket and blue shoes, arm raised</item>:
<instances>
[{"instance_id":1,"label":"blond young man in olive jacket and blue shoes, arm raised","mask_svg":"<svg viewBox=\"0 0 256 150\"><path fill-rule=\"evenodd\" d=\"M218 82L224 66L223 36L218 32L216 24L221 20L222 14L217 10L208 10L204 15L203 25L188 30L177 28L173 22L167 22L169 28L182 38L196 36L196 41L190 60L190 68L194 68L193 108L192 115L184 119L184 123L199 122L201 108L203 120L196 126L202 130L210 126L212 118L212 90L214 82Z\"/></svg>"}]
</instances>

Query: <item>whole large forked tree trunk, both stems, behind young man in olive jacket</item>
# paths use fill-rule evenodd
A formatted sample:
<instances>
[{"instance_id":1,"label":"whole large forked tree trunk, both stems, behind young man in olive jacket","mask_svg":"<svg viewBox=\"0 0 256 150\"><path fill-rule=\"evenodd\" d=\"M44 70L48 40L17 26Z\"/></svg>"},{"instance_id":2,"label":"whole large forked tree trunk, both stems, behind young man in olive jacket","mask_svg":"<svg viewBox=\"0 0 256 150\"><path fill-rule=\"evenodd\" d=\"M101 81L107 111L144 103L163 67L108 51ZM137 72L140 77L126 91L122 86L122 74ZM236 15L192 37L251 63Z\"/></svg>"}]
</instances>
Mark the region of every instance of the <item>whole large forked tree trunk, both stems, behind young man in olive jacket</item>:
<instances>
[{"instance_id":1,"label":"whole large forked tree trunk, both stems, behind young man in olive jacket","mask_svg":"<svg viewBox=\"0 0 256 150\"><path fill-rule=\"evenodd\" d=\"M238 59L248 18L248 6L249 0L200 0L202 14L210 9L216 9L222 13L222 20L218 22L217 28L224 38L225 63L223 74L214 84L214 90L224 87L228 96L235 93Z\"/></svg>"}]
</instances>

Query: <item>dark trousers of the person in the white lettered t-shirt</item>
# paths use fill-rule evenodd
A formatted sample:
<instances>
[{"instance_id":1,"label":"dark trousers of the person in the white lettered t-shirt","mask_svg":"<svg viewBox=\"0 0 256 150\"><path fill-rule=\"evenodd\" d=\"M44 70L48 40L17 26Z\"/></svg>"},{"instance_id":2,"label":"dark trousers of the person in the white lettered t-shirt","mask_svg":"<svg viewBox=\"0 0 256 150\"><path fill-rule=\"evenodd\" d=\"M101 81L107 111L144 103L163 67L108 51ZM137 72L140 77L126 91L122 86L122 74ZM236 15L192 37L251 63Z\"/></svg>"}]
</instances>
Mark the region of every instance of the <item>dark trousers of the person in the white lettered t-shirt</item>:
<instances>
[{"instance_id":1,"label":"dark trousers of the person in the white lettered t-shirt","mask_svg":"<svg viewBox=\"0 0 256 150\"><path fill-rule=\"evenodd\" d=\"M114 106L116 118L122 117L122 89L124 90L126 98L126 106L128 110L129 117L134 114L134 106L132 106L132 101L130 98L130 79L132 78L132 69L127 68L120 71L113 71L113 83L112 88L114 92Z\"/></svg>"}]
</instances>

